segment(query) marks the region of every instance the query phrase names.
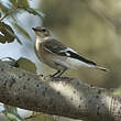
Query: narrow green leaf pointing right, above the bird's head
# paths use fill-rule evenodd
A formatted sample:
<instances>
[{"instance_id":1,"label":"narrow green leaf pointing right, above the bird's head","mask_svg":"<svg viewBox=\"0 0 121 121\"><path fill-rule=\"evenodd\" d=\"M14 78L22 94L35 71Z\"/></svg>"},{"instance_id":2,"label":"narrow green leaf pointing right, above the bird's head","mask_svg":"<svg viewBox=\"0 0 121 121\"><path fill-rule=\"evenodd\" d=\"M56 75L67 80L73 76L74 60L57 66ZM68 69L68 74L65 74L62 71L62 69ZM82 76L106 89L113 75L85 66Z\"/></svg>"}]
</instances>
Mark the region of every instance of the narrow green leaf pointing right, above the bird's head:
<instances>
[{"instance_id":1,"label":"narrow green leaf pointing right, above the bird's head","mask_svg":"<svg viewBox=\"0 0 121 121\"><path fill-rule=\"evenodd\" d=\"M41 12L40 10L33 9L33 8L24 8L24 7L22 7L21 9L28 11L31 14L38 15L41 18L45 16L45 14L43 12Z\"/></svg>"}]
</instances>

